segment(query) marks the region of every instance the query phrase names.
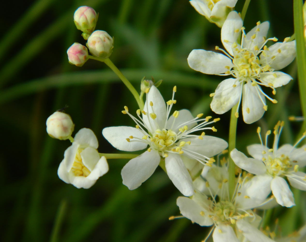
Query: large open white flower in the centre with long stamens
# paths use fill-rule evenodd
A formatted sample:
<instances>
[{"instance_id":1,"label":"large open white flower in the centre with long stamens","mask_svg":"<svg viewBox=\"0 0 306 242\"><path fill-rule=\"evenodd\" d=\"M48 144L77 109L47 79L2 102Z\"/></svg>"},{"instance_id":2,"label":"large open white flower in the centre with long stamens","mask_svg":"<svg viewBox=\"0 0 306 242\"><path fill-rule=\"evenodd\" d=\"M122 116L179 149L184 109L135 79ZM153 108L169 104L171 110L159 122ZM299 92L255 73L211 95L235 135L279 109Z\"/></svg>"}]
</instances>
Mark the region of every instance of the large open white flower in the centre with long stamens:
<instances>
[{"instance_id":1,"label":"large open white flower in the centre with long stamens","mask_svg":"<svg viewBox=\"0 0 306 242\"><path fill-rule=\"evenodd\" d=\"M146 181L159 165L162 156L165 158L167 174L173 184L186 196L193 194L193 184L190 174L186 169L181 155L211 165L210 157L220 153L227 147L226 141L206 136L192 135L192 132L212 129L204 127L219 119L208 122L211 117L200 119L203 114L196 118L188 110L174 111L169 117L174 100L174 87L172 99L167 102L167 107L162 95L155 86L147 93L142 117L140 109L136 111L138 119L133 117L125 106L124 114L128 114L136 122L136 128L119 126L108 127L102 131L103 136L115 148L122 151L139 151L149 148L140 156L131 159L122 169L123 184L129 189L138 188ZM200 124L197 124L200 122Z\"/></svg>"}]
</instances>

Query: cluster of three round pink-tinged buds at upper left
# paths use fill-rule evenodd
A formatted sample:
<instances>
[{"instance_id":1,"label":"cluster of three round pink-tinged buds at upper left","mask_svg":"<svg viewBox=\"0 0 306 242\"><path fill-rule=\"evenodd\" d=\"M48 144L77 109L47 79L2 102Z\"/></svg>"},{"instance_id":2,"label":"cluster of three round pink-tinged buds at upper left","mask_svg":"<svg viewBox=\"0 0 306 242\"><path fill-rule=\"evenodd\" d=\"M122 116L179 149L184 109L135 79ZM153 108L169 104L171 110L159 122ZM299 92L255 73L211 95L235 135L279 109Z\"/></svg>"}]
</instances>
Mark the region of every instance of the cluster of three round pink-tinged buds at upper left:
<instances>
[{"instance_id":1,"label":"cluster of three round pink-tinged buds at upper left","mask_svg":"<svg viewBox=\"0 0 306 242\"><path fill-rule=\"evenodd\" d=\"M98 58L109 58L113 52L114 39L105 31L95 30L99 14L88 6L82 6L74 12L74 23L81 30L82 36L87 40L90 53ZM80 43L74 43L67 50L69 63L82 66L88 60L88 50Z\"/></svg>"}]
</instances>

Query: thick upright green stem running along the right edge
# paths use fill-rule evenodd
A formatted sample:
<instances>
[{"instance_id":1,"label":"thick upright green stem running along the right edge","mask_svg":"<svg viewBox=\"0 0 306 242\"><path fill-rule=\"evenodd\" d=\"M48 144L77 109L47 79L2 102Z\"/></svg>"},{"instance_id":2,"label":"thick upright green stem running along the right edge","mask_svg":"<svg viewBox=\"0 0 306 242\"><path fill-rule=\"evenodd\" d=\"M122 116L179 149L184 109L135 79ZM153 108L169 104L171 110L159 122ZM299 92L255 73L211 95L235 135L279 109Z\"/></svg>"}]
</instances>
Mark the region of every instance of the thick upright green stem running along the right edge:
<instances>
[{"instance_id":1,"label":"thick upright green stem running along the right edge","mask_svg":"<svg viewBox=\"0 0 306 242\"><path fill-rule=\"evenodd\" d=\"M300 101L302 114L306 117L306 50L304 40L304 22L303 22L303 1L293 0L293 19L294 19L294 32L296 36L297 45L297 76L300 90ZM306 129L306 119L304 119L300 136Z\"/></svg>"}]
</instances>

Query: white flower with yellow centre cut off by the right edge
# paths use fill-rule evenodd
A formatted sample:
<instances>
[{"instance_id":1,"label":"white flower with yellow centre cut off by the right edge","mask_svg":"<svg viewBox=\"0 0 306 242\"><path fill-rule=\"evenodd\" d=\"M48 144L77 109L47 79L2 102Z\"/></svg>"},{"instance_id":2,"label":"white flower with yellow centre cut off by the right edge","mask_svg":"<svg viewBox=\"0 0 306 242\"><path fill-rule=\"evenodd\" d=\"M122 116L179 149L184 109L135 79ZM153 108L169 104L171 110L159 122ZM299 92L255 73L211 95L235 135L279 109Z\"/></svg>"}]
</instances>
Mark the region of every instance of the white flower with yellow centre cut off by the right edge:
<instances>
[{"instance_id":1,"label":"white flower with yellow centre cut off by the right edge","mask_svg":"<svg viewBox=\"0 0 306 242\"><path fill-rule=\"evenodd\" d=\"M274 128L273 148L267 147L267 138L271 133L266 134L266 145L263 145L258 128L261 144L253 144L247 147L248 153L253 158L246 157L242 152L234 149L230 155L237 166L265 179L271 187L276 201L285 207L292 207L294 204L293 194L283 177L287 177L290 184L300 190L306 191L306 173L298 171L306 166L306 145L301 148L295 146L305 137L305 134L294 145L285 144L278 148L279 135L282 131L283 122L278 122Z\"/></svg>"}]
</instances>

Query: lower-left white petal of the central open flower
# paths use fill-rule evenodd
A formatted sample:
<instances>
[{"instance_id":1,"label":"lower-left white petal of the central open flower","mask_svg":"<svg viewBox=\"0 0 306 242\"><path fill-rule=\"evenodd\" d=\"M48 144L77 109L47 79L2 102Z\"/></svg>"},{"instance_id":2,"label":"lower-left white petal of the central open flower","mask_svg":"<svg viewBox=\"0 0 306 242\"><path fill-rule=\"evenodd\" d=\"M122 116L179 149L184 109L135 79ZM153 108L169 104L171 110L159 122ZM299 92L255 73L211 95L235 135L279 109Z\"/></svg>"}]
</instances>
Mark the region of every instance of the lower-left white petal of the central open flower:
<instances>
[{"instance_id":1,"label":"lower-left white petal of the central open flower","mask_svg":"<svg viewBox=\"0 0 306 242\"><path fill-rule=\"evenodd\" d=\"M155 150L146 151L131 159L121 170L123 184L130 190L138 188L151 177L159 162L160 156Z\"/></svg>"}]
</instances>

